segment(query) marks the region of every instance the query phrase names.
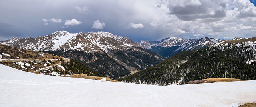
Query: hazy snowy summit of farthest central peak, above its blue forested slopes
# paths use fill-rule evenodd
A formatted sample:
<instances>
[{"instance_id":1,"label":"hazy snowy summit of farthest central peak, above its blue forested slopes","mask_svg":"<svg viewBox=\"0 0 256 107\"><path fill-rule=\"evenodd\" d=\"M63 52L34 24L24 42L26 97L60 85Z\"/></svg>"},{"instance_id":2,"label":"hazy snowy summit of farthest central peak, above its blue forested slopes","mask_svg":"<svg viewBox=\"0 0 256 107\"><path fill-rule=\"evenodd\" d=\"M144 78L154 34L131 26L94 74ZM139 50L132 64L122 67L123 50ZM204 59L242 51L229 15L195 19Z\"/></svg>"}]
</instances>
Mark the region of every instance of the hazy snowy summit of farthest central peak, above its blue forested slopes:
<instances>
[{"instance_id":1,"label":"hazy snowy summit of farthest central peak, above its blue forested slopes","mask_svg":"<svg viewBox=\"0 0 256 107\"><path fill-rule=\"evenodd\" d=\"M180 37L167 37L161 41L137 41L141 47L145 49L151 49L151 46L161 46L161 47L172 47L172 46L181 46L186 40Z\"/></svg>"}]
</instances>

